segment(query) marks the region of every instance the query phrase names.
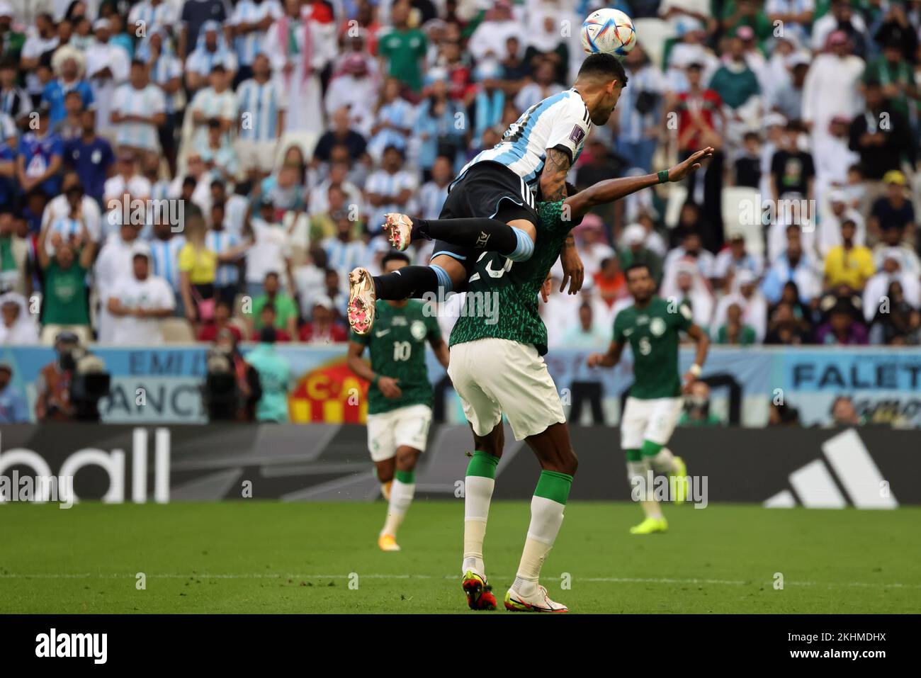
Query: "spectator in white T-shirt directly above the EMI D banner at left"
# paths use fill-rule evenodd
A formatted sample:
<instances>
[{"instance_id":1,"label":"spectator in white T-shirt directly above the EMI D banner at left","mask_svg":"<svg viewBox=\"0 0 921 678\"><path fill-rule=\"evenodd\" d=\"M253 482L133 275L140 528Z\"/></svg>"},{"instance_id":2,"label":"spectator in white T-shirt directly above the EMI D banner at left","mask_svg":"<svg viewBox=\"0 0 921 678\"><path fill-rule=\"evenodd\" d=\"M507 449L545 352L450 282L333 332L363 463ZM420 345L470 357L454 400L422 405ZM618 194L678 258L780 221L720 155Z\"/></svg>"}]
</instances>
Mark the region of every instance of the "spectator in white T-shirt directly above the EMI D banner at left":
<instances>
[{"instance_id":1,"label":"spectator in white T-shirt directly above the EMI D banner at left","mask_svg":"<svg viewBox=\"0 0 921 678\"><path fill-rule=\"evenodd\" d=\"M135 245L131 261L131 275L118 281L106 303L114 316L112 343L162 344L159 320L173 314L176 299L167 281L150 273L149 247Z\"/></svg>"}]
</instances>

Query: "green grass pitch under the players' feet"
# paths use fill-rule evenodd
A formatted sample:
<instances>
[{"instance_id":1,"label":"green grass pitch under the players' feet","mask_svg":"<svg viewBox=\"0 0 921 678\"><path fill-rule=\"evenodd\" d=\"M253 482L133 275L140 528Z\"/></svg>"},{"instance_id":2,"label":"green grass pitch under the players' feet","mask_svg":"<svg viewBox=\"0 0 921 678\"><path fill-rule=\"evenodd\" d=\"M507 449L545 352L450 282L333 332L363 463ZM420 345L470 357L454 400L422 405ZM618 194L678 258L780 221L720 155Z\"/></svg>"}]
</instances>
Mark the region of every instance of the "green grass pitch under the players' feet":
<instances>
[{"instance_id":1,"label":"green grass pitch under the players' feet","mask_svg":"<svg viewBox=\"0 0 921 678\"><path fill-rule=\"evenodd\" d=\"M382 502L6 504L0 613L508 614L466 608L461 500L414 503L402 553L377 548L384 511ZM666 516L669 533L632 536L637 507L571 503L543 583L574 613L921 611L921 509L711 505ZM484 552L500 608L528 520L527 502L490 511Z\"/></svg>"}]
</instances>

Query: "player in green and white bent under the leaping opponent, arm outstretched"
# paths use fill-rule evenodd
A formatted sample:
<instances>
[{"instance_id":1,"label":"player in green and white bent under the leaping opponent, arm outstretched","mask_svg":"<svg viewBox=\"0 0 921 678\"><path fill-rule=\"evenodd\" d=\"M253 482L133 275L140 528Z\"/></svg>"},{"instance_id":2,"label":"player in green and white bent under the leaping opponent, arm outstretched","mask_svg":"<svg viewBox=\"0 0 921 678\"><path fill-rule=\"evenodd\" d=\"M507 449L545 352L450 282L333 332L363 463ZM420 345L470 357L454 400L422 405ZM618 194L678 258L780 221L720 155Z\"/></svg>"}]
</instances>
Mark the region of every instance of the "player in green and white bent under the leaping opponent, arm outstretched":
<instances>
[{"instance_id":1,"label":"player in green and white bent under the leaping opponent, arm outstretched","mask_svg":"<svg viewBox=\"0 0 921 678\"><path fill-rule=\"evenodd\" d=\"M502 456L506 415L515 438L525 440L537 455L542 472L530 505L530 527L518 574L508 589L505 605L516 612L566 612L542 587L543 560L563 523L563 511L573 475L576 452L572 449L563 405L543 355L547 352L547 328L537 308L537 294L544 287L551 266L571 228L595 205L610 203L665 181L680 181L711 158L713 148L694 153L681 164L658 174L600 181L565 200L537 205L537 237L534 254L526 262L514 262L481 245L473 273L467 281L466 312L451 332L448 374L461 396L464 415L473 431L474 452L464 481L464 553L462 586L468 605L475 610L495 607L487 584L483 558L486 520L495 486L495 468ZM391 216L395 218L391 219ZM489 218L453 219L471 228L507 228ZM441 228L446 220L427 222L405 215L389 215L391 244L401 248L420 228ZM399 225L399 226L397 226ZM485 307L491 295L498 315L471 312Z\"/></svg>"}]
</instances>

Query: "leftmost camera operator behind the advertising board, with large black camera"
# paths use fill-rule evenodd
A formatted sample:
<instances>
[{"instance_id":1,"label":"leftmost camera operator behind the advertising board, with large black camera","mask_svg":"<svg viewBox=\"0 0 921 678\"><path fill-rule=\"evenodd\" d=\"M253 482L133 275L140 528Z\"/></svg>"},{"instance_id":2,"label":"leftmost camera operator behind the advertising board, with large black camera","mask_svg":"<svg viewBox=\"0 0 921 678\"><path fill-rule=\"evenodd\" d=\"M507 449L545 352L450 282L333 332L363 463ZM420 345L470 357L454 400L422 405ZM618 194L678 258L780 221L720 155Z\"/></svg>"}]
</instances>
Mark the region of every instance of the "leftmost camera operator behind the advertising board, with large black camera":
<instances>
[{"instance_id":1,"label":"leftmost camera operator behind the advertising board, with large black camera","mask_svg":"<svg viewBox=\"0 0 921 678\"><path fill-rule=\"evenodd\" d=\"M57 359L41 368L36 381L35 416L43 421L99 421L99 400L111 377L102 360L80 345L76 334L54 339Z\"/></svg>"}]
</instances>

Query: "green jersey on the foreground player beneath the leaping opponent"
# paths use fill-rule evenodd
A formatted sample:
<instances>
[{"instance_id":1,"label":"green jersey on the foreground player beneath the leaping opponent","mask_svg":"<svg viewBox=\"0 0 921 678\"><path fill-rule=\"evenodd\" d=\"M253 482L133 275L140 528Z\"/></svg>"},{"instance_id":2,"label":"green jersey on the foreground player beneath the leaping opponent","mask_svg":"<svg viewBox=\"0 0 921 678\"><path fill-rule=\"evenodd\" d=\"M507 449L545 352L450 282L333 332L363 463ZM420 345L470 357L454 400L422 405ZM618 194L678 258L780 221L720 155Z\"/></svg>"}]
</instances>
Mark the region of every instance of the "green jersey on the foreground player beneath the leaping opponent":
<instances>
[{"instance_id":1,"label":"green jersey on the foreground player beneath the leaping opponent","mask_svg":"<svg viewBox=\"0 0 921 678\"><path fill-rule=\"evenodd\" d=\"M565 218L562 200L538 203L537 214L537 240L528 261L513 262L495 251L480 255L450 345L491 337L532 344L541 356L547 352L547 328L537 311L537 295L576 224Z\"/></svg>"}]
</instances>

